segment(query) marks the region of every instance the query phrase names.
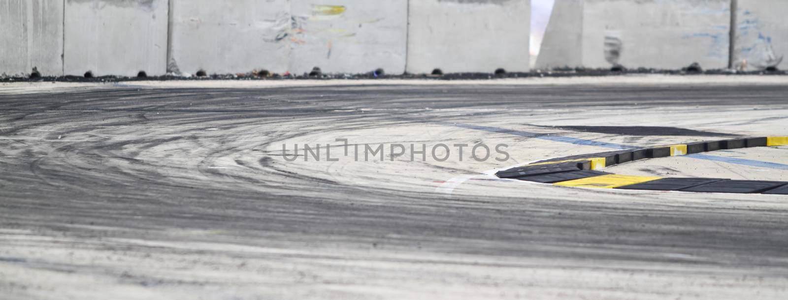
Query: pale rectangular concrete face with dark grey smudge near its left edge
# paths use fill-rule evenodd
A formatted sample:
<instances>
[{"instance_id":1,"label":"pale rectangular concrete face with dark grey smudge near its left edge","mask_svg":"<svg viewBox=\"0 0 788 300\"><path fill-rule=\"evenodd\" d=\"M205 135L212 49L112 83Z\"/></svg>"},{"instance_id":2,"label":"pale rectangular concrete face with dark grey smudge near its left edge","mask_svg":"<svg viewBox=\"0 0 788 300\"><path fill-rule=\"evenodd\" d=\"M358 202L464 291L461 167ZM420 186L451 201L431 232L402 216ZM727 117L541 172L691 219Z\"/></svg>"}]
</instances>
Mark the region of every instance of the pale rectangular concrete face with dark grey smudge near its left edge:
<instances>
[{"instance_id":1,"label":"pale rectangular concrete face with dark grey smudge near its left edge","mask_svg":"<svg viewBox=\"0 0 788 300\"><path fill-rule=\"evenodd\" d=\"M730 0L586 0L586 67L681 69L728 62Z\"/></svg>"}]
</instances>

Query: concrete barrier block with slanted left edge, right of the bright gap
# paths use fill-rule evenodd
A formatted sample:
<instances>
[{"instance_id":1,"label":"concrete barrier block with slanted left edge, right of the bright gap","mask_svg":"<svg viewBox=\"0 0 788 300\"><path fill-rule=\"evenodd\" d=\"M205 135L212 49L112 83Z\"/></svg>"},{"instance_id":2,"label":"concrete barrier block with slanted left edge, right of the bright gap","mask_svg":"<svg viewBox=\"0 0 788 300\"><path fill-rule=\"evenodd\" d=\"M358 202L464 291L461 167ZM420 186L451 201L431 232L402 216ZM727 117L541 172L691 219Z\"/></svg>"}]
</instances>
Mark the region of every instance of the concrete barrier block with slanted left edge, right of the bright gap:
<instances>
[{"instance_id":1,"label":"concrete barrier block with slanted left edge, right of the bright gap","mask_svg":"<svg viewBox=\"0 0 788 300\"><path fill-rule=\"evenodd\" d=\"M554 14L539 69L727 67L730 0L566 0Z\"/></svg>"}]
</instances>

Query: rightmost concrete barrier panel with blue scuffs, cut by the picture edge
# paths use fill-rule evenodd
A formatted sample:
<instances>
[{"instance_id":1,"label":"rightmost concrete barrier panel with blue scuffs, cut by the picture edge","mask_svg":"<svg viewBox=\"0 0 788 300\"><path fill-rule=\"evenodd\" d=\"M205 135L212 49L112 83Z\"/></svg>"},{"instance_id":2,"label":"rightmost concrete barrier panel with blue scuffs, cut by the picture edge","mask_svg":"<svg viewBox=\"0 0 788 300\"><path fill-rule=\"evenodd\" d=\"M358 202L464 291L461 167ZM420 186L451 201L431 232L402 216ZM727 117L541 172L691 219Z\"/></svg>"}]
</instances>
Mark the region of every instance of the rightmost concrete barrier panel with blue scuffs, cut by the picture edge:
<instances>
[{"instance_id":1,"label":"rightmost concrete barrier panel with blue scuffs, cut by the picture edge","mask_svg":"<svg viewBox=\"0 0 788 300\"><path fill-rule=\"evenodd\" d=\"M783 60L788 54L786 14L786 0L738 0L734 67L762 70L788 66Z\"/></svg>"}]
</instances>

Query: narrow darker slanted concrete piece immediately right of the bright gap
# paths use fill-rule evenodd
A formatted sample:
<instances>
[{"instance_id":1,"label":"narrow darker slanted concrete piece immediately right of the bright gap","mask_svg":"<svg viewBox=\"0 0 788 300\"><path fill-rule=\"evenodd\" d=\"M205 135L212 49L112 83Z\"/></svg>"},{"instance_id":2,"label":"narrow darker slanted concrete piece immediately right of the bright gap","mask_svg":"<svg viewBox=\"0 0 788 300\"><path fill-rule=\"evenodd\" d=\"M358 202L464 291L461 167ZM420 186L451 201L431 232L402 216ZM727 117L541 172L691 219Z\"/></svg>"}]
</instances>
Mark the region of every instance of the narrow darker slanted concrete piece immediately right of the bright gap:
<instances>
[{"instance_id":1,"label":"narrow darker slanted concrete piece immediately right of the bright gap","mask_svg":"<svg viewBox=\"0 0 788 300\"><path fill-rule=\"evenodd\" d=\"M559 0L545 30L536 69L582 66L583 0Z\"/></svg>"}]
</instances>

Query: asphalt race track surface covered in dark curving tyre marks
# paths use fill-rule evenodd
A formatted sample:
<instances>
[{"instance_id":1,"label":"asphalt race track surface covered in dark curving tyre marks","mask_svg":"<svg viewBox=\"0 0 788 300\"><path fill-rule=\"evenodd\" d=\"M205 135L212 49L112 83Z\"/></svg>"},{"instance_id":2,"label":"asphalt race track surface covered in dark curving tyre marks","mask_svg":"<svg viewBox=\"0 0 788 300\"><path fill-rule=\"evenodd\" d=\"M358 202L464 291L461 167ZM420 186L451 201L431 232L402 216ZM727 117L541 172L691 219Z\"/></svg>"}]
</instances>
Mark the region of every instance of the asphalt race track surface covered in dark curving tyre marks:
<instances>
[{"instance_id":1,"label":"asphalt race track surface covered in dark curving tyre marks","mask_svg":"<svg viewBox=\"0 0 788 300\"><path fill-rule=\"evenodd\" d=\"M786 83L6 91L0 298L784 298L788 196L493 174L604 143L788 135L786 97ZM382 143L384 159L336 139ZM284 159L305 143L338 160ZM392 161L392 143L427 158ZM436 161L438 143L509 157ZM785 146L708 156L611 172L788 181Z\"/></svg>"}]
</instances>

